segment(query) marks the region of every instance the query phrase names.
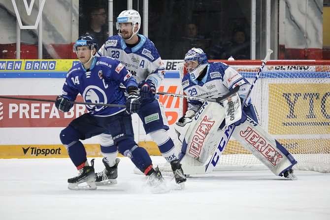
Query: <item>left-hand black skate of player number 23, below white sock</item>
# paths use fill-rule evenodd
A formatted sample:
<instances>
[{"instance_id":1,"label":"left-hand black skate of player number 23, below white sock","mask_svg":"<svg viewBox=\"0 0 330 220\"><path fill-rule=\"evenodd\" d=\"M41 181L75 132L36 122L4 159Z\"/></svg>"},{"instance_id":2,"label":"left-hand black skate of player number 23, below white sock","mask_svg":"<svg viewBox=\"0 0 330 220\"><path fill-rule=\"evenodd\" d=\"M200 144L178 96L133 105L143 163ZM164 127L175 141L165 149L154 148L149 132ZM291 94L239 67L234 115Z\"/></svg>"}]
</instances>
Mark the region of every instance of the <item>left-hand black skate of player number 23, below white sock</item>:
<instances>
[{"instance_id":1,"label":"left-hand black skate of player number 23, below white sock","mask_svg":"<svg viewBox=\"0 0 330 220\"><path fill-rule=\"evenodd\" d=\"M102 162L105 166L102 172L96 173L96 185L97 186L109 186L117 184L118 177L118 163L120 159L116 158L115 165L110 167L105 161L104 158Z\"/></svg>"}]
</instances>

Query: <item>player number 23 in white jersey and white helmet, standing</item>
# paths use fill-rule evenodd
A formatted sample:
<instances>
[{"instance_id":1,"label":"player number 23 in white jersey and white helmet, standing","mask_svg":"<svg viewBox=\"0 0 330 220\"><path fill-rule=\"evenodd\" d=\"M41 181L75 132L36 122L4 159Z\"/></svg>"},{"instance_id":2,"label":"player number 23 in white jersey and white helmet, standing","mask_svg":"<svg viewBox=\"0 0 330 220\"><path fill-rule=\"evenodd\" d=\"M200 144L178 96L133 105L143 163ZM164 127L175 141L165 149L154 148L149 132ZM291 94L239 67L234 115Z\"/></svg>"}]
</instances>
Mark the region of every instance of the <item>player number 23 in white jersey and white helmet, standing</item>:
<instances>
[{"instance_id":1,"label":"player number 23 in white jersey and white helmet, standing","mask_svg":"<svg viewBox=\"0 0 330 220\"><path fill-rule=\"evenodd\" d=\"M174 143L167 132L169 126L164 107L155 97L165 76L165 65L153 42L138 34L141 17L137 11L122 11L117 18L116 26L118 35L109 37L99 49L98 55L119 60L139 83L142 102L138 115L145 132L157 143L161 154L171 164L176 183L183 187L186 177ZM100 136L103 162L105 165L114 166L117 149L113 143L108 142L106 133ZM112 181L110 175L105 176L106 169L102 175L103 180L99 180L102 183Z\"/></svg>"}]
</instances>

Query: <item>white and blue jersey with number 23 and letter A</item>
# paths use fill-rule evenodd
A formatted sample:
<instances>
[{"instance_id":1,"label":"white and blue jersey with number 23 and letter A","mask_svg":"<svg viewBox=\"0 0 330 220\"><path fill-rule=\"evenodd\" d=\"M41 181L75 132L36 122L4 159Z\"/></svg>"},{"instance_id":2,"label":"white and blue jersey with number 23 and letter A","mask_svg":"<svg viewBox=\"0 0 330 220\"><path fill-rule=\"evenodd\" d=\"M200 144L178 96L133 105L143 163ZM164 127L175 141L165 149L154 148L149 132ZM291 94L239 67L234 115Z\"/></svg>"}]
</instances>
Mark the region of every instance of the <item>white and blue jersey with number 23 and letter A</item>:
<instances>
[{"instance_id":1,"label":"white and blue jersey with number 23 and letter A","mask_svg":"<svg viewBox=\"0 0 330 220\"><path fill-rule=\"evenodd\" d=\"M141 34L137 35L140 42L132 48L128 47L119 35L109 37L99 49L98 56L119 60L131 72L137 83L150 79L158 89L165 76L165 65L154 43Z\"/></svg>"}]
</instances>

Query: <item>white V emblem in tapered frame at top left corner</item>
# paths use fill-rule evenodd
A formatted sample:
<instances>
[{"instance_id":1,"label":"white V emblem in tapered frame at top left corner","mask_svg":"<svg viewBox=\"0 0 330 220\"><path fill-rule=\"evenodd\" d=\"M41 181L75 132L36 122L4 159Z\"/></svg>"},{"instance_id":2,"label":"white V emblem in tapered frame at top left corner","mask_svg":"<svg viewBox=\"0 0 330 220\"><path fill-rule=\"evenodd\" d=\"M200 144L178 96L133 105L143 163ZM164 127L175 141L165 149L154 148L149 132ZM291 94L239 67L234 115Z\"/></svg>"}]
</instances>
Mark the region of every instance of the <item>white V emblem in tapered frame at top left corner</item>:
<instances>
[{"instance_id":1,"label":"white V emblem in tapered frame at top left corner","mask_svg":"<svg viewBox=\"0 0 330 220\"><path fill-rule=\"evenodd\" d=\"M34 10L35 11L38 10L38 13L37 13L36 18L33 18L33 16L35 16L35 13L33 13L33 15L31 15L31 12L32 12L32 9L33 9L34 0L31 0L30 1L30 5L28 4L28 1L27 0L23 0L26 13L29 16L29 18L27 20L29 20L29 21L35 21L34 25L23 25L22 20L21 20L21 14L23 14L25 12L22 12L21 11L21 13L20 13L18 11L18 8L17 8L17 5L16 5L16 1L17 0L11 0L11 2L13 3L13 6L14 6L15 14L16 14L17 21L18 21L18 24L20 26L20 29L37 29L38 28L38 25L39 25L41 14L42 14L42 9L43 9L43 6L44 6L46 0L41 0L41 3L38 6L35 5ZM19 0L17 2L20 5L22 3L22 0ZM40 0L38 2L40 2ZM25 20L24 22L26 23L27 21Z\"/></svg>"}]
</instances>

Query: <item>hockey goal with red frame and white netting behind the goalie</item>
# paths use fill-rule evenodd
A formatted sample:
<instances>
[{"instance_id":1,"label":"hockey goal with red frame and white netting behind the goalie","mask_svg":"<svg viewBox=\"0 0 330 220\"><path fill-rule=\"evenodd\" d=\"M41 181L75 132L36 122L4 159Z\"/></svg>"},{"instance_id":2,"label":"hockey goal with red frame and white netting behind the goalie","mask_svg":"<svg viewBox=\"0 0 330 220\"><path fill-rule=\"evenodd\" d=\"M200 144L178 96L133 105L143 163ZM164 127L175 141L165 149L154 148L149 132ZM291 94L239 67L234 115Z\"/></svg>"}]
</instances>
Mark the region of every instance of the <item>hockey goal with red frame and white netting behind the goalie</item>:
<instances>
[{"instance_id":1,"label":"hockey goal with red frame and white netting behind the goalie","mask_svg":"<svg viewBox=\"0 0 330 220\"><path fill-rule=\"evenodd\" d=\"M249 82L262 63L221 62ZM182 78L185 74L182 63L179 69ZM268 61L251 98L259 124L296 158L294 169L330 172L330 61ZM182 103L184 114L186 100ZM214 170L256 169L266 167L231 138Z\"/></svg>"}]
</instances>

